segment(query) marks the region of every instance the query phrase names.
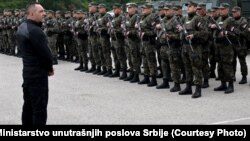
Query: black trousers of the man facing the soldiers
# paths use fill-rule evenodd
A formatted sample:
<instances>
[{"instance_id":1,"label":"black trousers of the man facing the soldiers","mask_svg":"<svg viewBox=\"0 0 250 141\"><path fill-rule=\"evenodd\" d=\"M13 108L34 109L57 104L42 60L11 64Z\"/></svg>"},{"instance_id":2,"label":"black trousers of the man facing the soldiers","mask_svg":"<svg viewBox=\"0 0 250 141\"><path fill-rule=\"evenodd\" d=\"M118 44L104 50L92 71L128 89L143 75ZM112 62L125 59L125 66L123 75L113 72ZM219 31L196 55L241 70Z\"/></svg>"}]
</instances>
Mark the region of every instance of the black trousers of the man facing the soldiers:
<instances>
[{"instance_id":1,"label":"black trousers of the man facing the soldiers","mask_svg":"<svg viewBox=\"0 0 250 141\"><path fill-rule=\"evenodd\" d=\"M48 92L48 78L24 79L23 125L46 124Z\"/></svg>"}]
</instances>

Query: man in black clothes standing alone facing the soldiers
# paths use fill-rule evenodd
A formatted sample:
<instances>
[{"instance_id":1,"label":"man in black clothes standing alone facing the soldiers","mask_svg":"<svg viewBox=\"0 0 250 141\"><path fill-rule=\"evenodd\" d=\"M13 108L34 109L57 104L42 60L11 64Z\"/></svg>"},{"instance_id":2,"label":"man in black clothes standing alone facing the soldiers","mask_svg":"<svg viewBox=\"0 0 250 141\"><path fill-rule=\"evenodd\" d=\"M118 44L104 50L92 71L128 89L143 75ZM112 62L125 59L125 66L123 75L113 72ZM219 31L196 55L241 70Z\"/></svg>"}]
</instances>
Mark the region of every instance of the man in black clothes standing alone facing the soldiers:
<instances>
[{"instance_id":1,"label":"man in black clothes standing alone facing the soldiers","mask_svg":"<svg viewBox=\"0 0 250 141\"><path fill-rule=\"evenodd\" d=\"M45 12L40 4L30 4L27 20L17 31L23 58L23 125L45 125L47 121L48 76L54 75L53 57L42 31Z\"/></svg>"}]
</instances>

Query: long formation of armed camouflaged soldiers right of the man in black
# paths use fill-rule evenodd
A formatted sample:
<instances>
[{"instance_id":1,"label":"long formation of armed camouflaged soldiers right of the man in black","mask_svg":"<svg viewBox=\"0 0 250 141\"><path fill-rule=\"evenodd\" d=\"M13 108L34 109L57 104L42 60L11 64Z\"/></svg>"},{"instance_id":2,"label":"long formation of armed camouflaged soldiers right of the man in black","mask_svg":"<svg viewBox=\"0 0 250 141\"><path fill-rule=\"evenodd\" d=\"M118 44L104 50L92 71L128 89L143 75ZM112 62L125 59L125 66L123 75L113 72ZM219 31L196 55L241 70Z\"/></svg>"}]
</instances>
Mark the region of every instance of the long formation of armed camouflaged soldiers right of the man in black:
<instances>
[{"instance_id":1,"label":"long formation of armed camouflaged soldiers right of the man in black","mask_svg":"<svg viewBox=\"0 0 250 141\"><path fill-rule=\"evenodd\" d=\"M227 3L209 10L205 4L192 1L186 6L186 17L180 5L162 5L153 13L149 3L141 7L141 13L135 3L127 5L127 13L120 4L114 4L111 15L105 4L92 2L88 12L66 11L64 18L61 11L48 10L44 31L55 64L59 53L60 59L79 60L75 70L87 73L157 89L169 88L169 81L174 81L170 92L191 94L192 98L200 97L201 88L209 87L217 66L216 79L221 85L214 90L232 93L236 58L242 74L239 83L247 83L247 20L241 16L240 7L234 7L230 17ZM141 65L143 80L139 78ZM156 78L161 75L163 83L158 85ZM181 91L183 81L186 87ZM194 93L192 85L196 86Z\"/></svg>"}]
</instances>

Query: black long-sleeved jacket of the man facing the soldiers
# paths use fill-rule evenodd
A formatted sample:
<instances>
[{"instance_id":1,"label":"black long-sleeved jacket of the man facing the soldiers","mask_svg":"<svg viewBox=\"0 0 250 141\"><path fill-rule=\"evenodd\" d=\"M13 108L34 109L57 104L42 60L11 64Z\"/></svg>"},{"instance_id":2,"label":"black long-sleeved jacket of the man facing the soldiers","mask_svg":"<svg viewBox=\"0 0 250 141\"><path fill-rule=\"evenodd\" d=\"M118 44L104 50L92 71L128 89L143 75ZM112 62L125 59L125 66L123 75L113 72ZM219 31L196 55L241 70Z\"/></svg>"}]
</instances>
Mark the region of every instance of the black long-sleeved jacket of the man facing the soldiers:
<instances>
[{"instance_id":1,"label":"black long-sleeved jacket of the man facing the soldiers","mask_svg":"<svg viewBox=\"0 0 250 141\"><path fill-rule=\"evenodd\" d=\"M17 44L23 58L23 78L48 78L53 70L53 59L42 24L26 20L16 33Z\"/></svg>"}]
</instances>

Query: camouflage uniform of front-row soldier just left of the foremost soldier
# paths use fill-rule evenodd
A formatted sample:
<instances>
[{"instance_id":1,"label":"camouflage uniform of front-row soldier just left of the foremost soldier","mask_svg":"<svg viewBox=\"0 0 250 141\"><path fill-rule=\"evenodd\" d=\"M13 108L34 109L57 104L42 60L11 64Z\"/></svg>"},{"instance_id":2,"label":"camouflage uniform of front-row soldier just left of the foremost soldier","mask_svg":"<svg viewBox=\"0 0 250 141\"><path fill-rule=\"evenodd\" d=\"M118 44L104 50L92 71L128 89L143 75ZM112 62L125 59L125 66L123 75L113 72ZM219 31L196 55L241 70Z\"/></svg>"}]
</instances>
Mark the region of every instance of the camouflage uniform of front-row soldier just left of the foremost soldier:
<instances>
[{"instance_id":1,"label":"camouflage uniform of front-row soldier just left of the foremost soldier","mask_svg":"<svg viewBox=\"0 0 250 141\"><path fill-rule=\"evenodd\" d=\"M163 9L170 10L172 7L167 5ZM169 12L170 13L170 12ZM172 14L172 13L171 13ZM170 90L171 92L176 92L180 90L180 77L181 77L181 47L178 44L180 42L179 33L176 30L178 25L176 17L173 15L166 15L161 22L160 37L161 43L161 65L163 71L163 83L157 88L169 88L170 73L172 72L172 78L175 82L175 86ZM170 65L171 69L168 68Z\"/></svg>"}]
</instances>

